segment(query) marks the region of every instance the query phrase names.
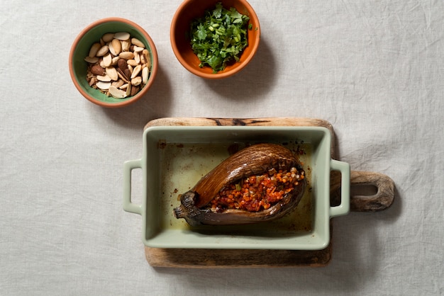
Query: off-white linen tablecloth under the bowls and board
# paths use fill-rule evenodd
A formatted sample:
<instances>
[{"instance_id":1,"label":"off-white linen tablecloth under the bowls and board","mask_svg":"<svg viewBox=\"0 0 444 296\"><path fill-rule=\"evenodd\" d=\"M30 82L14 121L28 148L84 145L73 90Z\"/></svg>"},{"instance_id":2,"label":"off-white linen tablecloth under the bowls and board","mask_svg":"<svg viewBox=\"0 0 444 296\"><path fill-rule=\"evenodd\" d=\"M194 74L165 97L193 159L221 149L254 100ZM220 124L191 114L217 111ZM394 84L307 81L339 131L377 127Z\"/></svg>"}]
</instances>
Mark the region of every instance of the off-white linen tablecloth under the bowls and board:
<instances>
[{"instance_id":1,"label":"off-white linen tablecloth under the bowls and board","mask_svg":"<svg viewBox=\"0 0 444 296\"><path fill-rule=\"evenodd\" d=\"M250 0L260 48L221 81L174 57L180 3L2 1L0 295L444 295L443 1ZM77 34L110 16L143 26L160 62L121 109L89 103L68 71ZM340 160L390 176L396 200L335 218L323 268L152 268L122 166L162 117L328 120Z\"/></svg>"}]
</instances>

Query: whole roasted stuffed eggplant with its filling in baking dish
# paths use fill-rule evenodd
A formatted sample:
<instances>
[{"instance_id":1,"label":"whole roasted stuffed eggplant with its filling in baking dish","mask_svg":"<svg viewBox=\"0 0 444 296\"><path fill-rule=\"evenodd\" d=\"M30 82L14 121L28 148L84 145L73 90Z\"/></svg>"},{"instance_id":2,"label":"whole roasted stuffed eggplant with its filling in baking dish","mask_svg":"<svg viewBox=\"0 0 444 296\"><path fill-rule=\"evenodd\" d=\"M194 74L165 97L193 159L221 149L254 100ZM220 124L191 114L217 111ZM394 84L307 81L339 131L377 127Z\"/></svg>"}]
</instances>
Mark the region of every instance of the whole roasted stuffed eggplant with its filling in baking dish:
<instances>
[{"instance_id":1,"label":"whole roasted stuffed eggplant with its filling in baking dish","mask_svg":"<svg viewBox=\"0 0 444 296\"><path fill-rule=\"evenodd\" d=\"M304 195L305 172L279 144L255 144L231 155L180 197L177 219L197 226L264 222L282 217Z\"/></svg>"}]
</instances>

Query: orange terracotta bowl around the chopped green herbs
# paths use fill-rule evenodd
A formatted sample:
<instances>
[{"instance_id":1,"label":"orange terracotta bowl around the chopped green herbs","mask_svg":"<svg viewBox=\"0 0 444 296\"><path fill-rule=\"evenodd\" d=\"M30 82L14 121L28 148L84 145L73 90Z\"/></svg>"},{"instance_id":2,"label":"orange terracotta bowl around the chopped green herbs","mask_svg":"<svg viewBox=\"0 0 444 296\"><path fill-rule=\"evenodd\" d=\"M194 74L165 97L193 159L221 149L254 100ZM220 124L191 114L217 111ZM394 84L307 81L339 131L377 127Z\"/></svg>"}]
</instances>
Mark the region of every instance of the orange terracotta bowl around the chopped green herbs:
<instances>
[{"instance_id":1,"label":"orange terracotta bowl around the chopped green herbs","mask_svg":"<svg viewBox=\"0 0 444 296\"><path fill-rule=\"evenodd\" d=\"M189 28L195 18L204 16L204 11L212 10L218 2L227 9L234 7L240 13L247 15L252 28L248 30L248 46L240 55L240 61L229 64L220 72L213 73L211 67L199 67L199 58L194 54L190 44ZM255 11L245 0L184 0L172 19L170 39L174 55L185 69L206 79L221 79L238 73L254 57L260 41L260 25Z\"/></svg>"}]
</instances>

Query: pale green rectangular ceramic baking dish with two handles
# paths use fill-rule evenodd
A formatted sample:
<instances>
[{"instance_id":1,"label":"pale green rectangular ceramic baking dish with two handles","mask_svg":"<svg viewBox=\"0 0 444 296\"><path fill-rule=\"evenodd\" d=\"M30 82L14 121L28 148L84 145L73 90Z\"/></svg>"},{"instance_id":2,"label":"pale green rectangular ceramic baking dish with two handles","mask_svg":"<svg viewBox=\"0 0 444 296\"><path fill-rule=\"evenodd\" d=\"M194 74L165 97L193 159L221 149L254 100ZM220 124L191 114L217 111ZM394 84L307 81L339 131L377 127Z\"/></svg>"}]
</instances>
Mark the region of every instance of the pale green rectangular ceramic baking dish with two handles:
<instances>
[{"instance_id":1,"label":"pale green rectangular ceramic baking dish with two handles","mask_svg":"<svg viewBox=\"0 0 444 296\"><path fill-rule=\"evenodd\" d=\"M237 226L190 227L174 217L179 194L226 159L233 145L260 142L299 152L308 186L291 213ZM134 169L143 172L141 205L131 201ZM331 171L341 174L341 202L334 207ZM330 242L330 219L350 211L350 166L331 159L331 132L325 127L148 127L142 158L123 164L123 209L141 215L143 243L152 248L320 250Z\"/></svg>"}]
</instances>

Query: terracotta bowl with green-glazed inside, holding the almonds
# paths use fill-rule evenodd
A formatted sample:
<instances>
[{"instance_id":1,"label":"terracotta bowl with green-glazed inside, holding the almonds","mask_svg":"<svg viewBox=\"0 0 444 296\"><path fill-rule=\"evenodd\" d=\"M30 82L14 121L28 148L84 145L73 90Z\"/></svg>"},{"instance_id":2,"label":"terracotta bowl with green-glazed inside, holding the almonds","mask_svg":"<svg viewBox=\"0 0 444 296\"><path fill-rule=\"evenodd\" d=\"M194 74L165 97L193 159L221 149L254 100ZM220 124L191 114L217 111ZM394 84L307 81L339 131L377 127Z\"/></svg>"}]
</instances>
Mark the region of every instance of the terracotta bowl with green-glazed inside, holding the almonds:
<instances>
[{"instance_id":1,"label":"terracotta bowl with green-glazed inside, holding the almonds","mask_svg":"<svg viewBox=\"0 0 444 296\"><path fill-rule=\"evenodd\" d=\"M105 33L117 32L128 32L130 33L131 38L137 38L142 41L145 48L150 52L151 58L151 73L147 84L145 84L143 89L135 94L135 96L129 96L127 98L113 98L111 96L106 96L106 94L101 93L101 91L89 86L86 79L88 64L84 61L84 58L87 57L91 45L93 45L94 42L98 42ZM128 106L145 96L155 79L159 64L157 60L157 50L150 35L148 35L140 25L128 21L125 18L104 18L91 23L87 28L84 28L72 44L69 63L72 82L74 82L74 86L77 90L82 93L82 96L92 103L107 108Z\"/></svg>"}]
</instances>

